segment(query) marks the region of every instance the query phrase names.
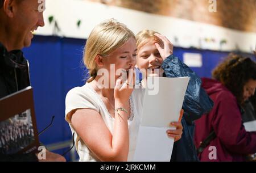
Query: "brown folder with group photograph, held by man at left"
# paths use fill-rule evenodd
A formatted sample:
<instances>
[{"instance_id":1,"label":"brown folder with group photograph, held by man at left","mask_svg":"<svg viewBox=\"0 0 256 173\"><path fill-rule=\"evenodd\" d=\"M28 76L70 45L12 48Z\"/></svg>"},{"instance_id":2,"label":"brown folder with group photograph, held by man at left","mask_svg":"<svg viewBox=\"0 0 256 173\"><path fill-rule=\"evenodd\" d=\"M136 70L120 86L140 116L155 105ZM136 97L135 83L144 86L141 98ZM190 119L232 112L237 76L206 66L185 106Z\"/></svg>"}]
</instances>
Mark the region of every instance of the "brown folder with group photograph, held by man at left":
<instances>
[{"instance_id":1,"label":"brown folder with group photograph, held by man at left","mask_svg":"<svg viewBox=\"0 0 256 173\"><path fill-rule=\"evenodd\" d=\"M0 99L0 153L35 153L38 147L32 87Z\"/></svg>"}]
</instances>

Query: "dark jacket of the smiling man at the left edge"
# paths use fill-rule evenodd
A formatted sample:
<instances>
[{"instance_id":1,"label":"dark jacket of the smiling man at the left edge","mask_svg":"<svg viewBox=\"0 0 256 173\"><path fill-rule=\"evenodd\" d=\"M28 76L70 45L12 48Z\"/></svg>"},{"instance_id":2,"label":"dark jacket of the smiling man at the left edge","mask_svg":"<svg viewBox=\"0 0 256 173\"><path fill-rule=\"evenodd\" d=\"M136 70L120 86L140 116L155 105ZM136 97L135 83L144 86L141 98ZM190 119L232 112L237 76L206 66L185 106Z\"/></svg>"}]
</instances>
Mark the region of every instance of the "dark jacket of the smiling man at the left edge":
<instances>
[{"instance_id":1,"label":"dark jacket of the smiling man at the left edge","mask_svg":"<svg viewBox=\"0 0 256 173\"><path fill-rule=\"evenodd\" d=\"M22 51L8 52L0 43L0 99L27 86L30 86L28 62ZM9 108L12 107L15 105ZM0 154L0 161L38 161L38 158L35 154Z\"/></svg>"}]
</instances>

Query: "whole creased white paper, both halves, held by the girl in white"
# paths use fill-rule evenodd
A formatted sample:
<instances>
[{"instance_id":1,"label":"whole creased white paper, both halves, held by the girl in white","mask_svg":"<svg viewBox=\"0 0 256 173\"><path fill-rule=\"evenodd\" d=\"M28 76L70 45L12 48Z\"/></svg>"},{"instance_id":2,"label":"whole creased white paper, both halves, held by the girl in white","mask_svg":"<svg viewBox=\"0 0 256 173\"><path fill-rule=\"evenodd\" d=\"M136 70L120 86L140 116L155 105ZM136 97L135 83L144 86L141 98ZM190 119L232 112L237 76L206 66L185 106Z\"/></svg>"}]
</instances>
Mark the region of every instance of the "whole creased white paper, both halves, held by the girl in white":
<instances>
[{"instance_id":1,"label":"whole creased white paper, both halves, held by the girl in white","mask_svg":"<svg viewBox=\"0 0 256 173\"><path fill-rule=\"evenodd\" d=\"M137 138L136 162L169 162L174 139L167 136L171 122L179 120L189 78L159 78L156 95L146 94L143 102L142 123Z\"/></svg>"}]
</instances>

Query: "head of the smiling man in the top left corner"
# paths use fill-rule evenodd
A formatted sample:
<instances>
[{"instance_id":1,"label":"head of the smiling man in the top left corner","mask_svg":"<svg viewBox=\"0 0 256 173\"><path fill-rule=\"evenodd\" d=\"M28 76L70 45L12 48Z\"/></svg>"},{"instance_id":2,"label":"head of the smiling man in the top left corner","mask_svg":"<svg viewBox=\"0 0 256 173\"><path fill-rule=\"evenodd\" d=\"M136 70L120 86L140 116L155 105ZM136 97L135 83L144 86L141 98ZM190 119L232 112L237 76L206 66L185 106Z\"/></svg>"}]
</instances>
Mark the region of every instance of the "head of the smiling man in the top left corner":
<instances>
[{"instance_id":1,"label":"head of the smiling man in the top left corner","mask_svg":"<svg viewBox=\"0 0 256 173\"><path fill-rule=\"evenodd\" d=\"M32 32L44 26L38 0L0 0L0 42L8 50L31 44Z\"/></svg>"}]
</instances>

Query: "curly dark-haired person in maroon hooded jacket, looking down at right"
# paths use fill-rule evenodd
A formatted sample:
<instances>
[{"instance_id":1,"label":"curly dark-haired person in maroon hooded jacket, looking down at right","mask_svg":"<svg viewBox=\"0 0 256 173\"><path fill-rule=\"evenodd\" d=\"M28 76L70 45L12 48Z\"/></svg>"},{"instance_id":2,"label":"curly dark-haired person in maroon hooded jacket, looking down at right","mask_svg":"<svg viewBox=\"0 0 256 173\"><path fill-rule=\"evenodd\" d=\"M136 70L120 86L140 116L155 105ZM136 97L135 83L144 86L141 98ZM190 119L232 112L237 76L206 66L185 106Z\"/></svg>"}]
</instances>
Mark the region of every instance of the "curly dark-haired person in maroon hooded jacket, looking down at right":
<instances>
[{"instance_id":1,"label":"curly dark-haired person in maroon hooded jacket, looking down at right","mask_svg":"<svg viewBox=\"0 0 256 173\"><path fill-rule=\"evenodd\" d=\"M254 95L256 63L230 54L213 70L214 79L203 78L203 88L214 102L208 116L196 120L195 145L200 161L245 161L256 153L256 132L246 132L243 104Z\"/></svg>"}]
</instances>

